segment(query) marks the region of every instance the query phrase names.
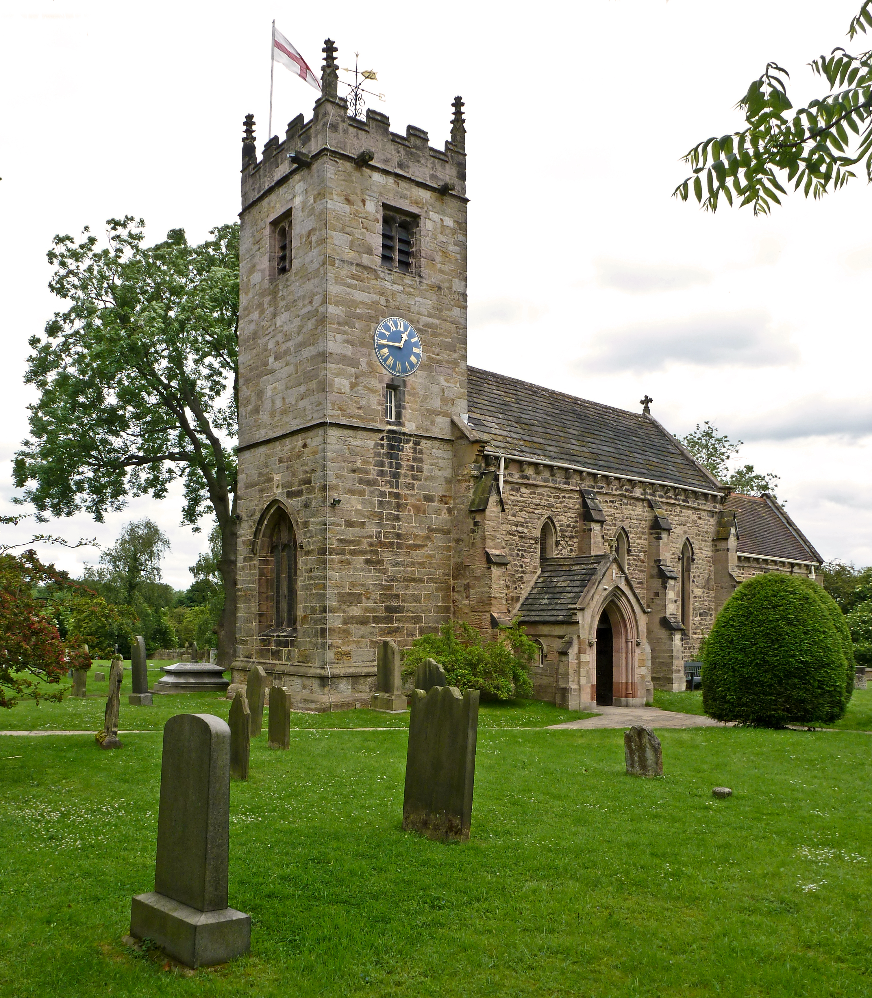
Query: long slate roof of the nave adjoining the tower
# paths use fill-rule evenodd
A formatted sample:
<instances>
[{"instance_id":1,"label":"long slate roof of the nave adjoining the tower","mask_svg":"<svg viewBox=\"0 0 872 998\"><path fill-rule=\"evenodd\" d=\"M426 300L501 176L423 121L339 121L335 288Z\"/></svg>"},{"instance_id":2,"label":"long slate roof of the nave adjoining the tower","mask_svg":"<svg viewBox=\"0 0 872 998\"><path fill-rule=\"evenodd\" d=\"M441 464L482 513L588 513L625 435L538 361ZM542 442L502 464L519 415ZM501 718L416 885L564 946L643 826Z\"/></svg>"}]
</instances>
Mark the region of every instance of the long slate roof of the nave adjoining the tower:
<instances>
[{"instance_id":1,"label":"long slate roof of the nave adjoining the tower","mask_svg":"<svg viewBox=\"0 0 872 998\"><path fill-rule=\"evenodd\" d=\"M713 491L650 416L467 368L469 423L505 454Z\"/></svg>"}]
</instances>

